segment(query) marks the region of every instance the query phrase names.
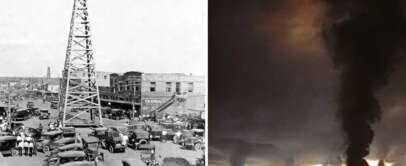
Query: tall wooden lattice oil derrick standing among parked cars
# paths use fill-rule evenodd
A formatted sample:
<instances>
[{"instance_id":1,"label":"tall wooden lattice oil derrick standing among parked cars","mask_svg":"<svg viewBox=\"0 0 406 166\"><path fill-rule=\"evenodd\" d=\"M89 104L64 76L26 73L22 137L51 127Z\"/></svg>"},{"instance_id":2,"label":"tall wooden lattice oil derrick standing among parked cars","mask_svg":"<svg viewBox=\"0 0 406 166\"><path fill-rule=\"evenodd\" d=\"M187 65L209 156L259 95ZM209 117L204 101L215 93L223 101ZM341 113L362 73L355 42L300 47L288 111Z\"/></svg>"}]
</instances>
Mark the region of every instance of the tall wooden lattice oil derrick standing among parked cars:
<instances>
[{"instance_id":1,"label":"tall wooden lattice oil derrick standing among parked cars","mask_svg":"<svg viewBox=\"0 0 406 166\"><path fill-rule=\"evenodd\" d=\"M102 125L86 0L74 0L59 96L63 126Z\"/></svg>"}]
</instances>

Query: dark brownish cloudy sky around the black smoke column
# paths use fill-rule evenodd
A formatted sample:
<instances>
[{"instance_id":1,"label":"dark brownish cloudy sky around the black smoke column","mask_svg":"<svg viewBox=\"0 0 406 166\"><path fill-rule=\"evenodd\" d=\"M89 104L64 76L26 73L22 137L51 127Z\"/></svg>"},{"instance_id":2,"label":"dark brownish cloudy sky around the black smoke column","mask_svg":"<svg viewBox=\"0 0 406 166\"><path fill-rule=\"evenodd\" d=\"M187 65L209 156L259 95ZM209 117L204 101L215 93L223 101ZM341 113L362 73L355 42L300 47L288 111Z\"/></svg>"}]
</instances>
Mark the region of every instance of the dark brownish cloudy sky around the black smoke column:
<instances>
[{"instance_id":1,"label":"dark brownish cloudy sky around the black smoke column","mask_svg":"<svg viewBox=\"0 0 406 166\"><path fill-rule=\"evenodd\" d=\"M325 10L320 0L209 2L210 165L314 164L343 153L338 72L321 37ZM406 70L398 61L376 94L383 115L371 157L405 158Z\"/></svg>"}]
</instances>

